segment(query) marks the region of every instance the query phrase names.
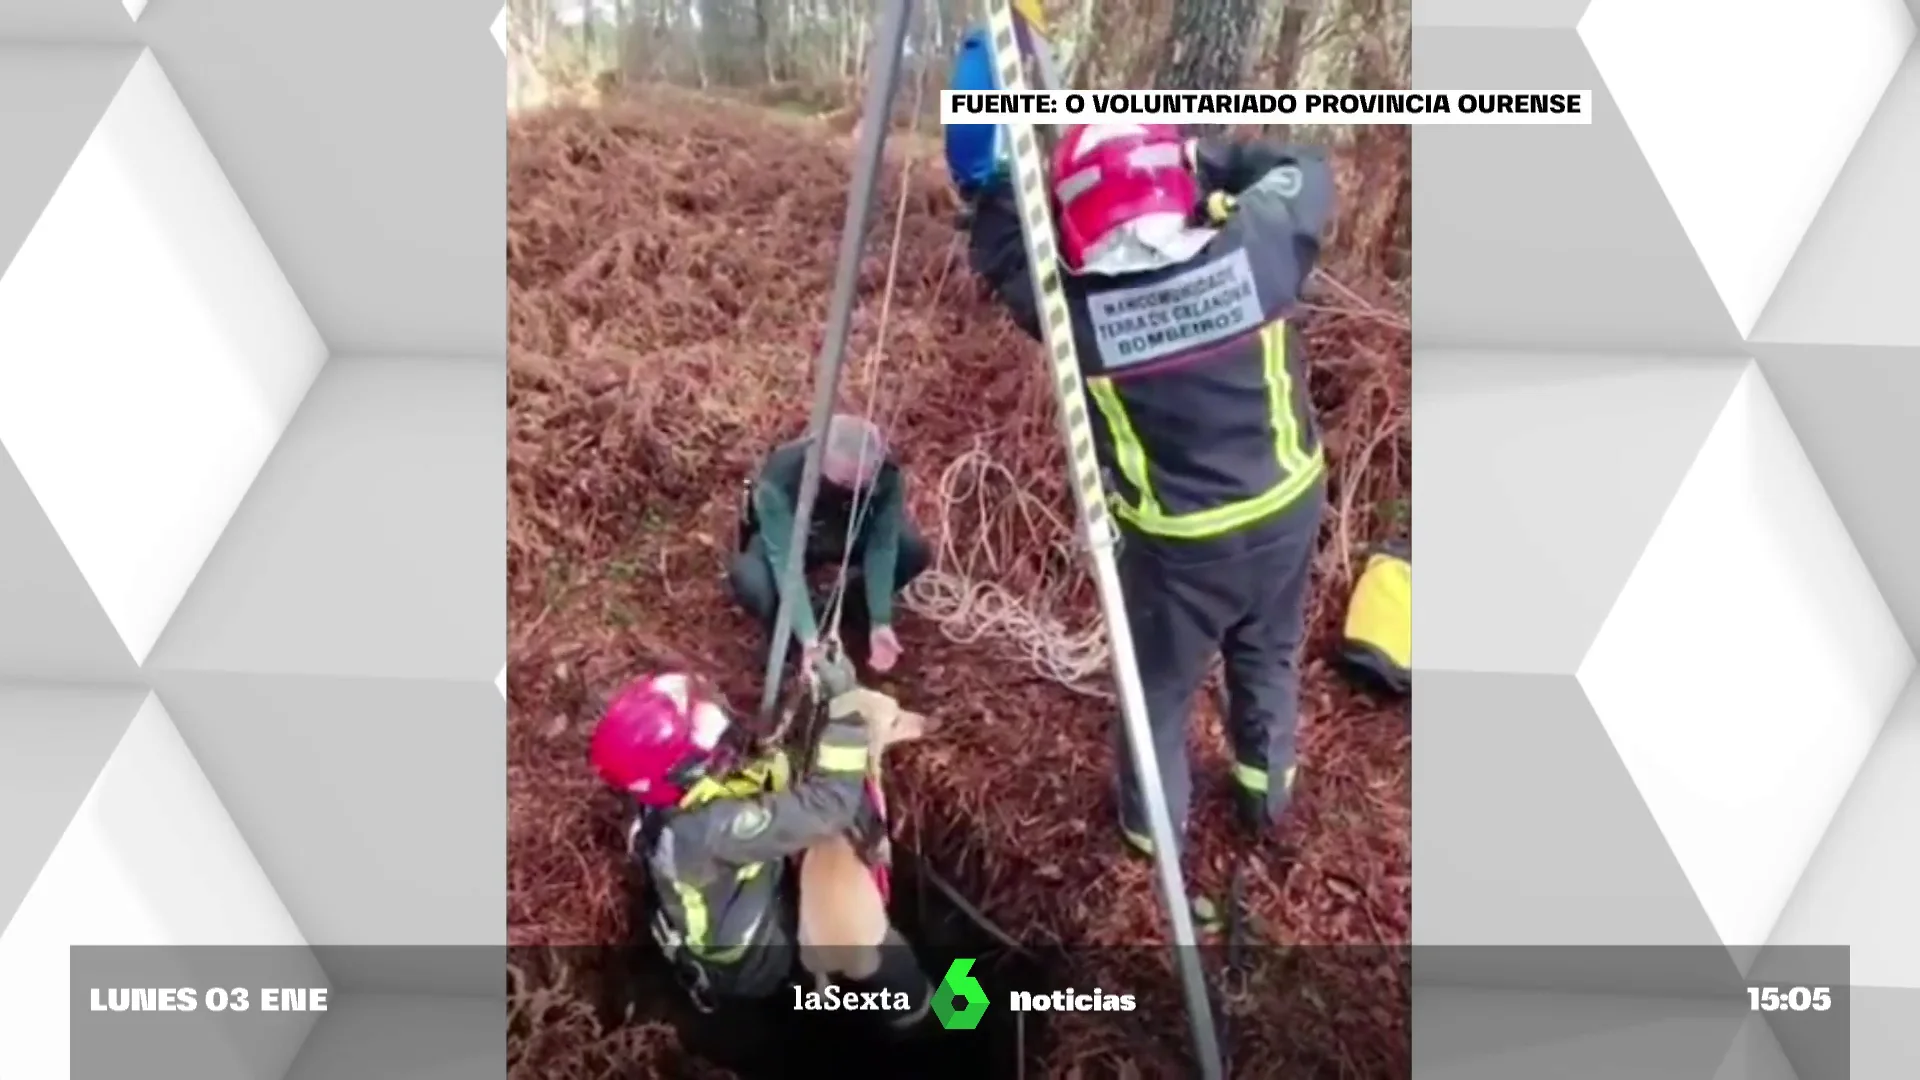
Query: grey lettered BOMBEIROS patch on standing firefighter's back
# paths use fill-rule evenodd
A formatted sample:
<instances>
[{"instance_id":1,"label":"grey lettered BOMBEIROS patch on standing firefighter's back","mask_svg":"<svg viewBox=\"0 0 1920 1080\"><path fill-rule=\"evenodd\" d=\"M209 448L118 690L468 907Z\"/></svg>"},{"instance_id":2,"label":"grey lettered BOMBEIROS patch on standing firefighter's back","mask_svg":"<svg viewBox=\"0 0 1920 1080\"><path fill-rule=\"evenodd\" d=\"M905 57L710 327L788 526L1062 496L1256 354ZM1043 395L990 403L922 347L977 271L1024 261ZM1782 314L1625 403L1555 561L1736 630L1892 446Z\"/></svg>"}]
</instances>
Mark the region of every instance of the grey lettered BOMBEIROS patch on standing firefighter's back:
<instances>
[{"instance_id":1,"label":"grey lettered BOMBEIROS patch on standing firefighter's back","mask_svg":"<svg viewBox=\"0 0 1920 1080\"><path fill-rule=\"evenodd\" d=\"M1100 367L1121 371L1250 332L1263 311L1242 248L1154 284L1094 292L1087 319Z\"/></svg>"}]
</instances>

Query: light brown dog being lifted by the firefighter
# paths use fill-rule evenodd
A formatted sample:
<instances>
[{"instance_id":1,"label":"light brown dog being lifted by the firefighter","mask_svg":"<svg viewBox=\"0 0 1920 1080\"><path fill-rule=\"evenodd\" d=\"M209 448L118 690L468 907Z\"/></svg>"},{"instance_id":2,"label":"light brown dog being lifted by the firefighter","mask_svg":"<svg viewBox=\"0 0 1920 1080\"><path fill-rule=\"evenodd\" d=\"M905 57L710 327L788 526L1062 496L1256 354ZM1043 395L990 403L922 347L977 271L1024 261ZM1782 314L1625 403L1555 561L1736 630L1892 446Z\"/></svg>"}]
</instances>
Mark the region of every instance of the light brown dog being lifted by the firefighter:
<instances>
[{"instance_id":1,"label":"light brown dog being lifted by the firefighter","mask_svg":"<svg viewBox=\"0 0 1920 1080\"><path fill-rule=\"evenodd\" d=\"M833 719L866 719L876 767L887 748L933 730L920 713L876 690L849 690L828 705ZM879 969L879 945L891 922L874 884L874 871L860 861L847 836L814 844L801 855L801 967L826 986L833 976L868 978Z\"/></svg>"}]
</instances>

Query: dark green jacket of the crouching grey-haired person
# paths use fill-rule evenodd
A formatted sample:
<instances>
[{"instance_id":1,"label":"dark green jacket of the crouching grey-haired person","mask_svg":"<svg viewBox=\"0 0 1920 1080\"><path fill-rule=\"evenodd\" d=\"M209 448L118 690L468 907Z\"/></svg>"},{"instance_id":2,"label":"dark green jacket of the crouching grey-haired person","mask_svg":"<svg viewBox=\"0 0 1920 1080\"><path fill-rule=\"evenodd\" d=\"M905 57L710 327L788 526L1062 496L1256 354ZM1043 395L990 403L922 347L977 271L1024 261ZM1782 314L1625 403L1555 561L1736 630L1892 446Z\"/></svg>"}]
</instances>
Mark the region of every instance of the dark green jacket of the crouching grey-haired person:
<instances>
[{"instance_id":1,"label":"dark green jacket of the crouching grey-haired person","mask_svg":"<svg viewBox=\"0 0 1920 1080\"><path fill-rule=\"evenodd\" d=\"M774 450L753 484L753 519L776 582L787 569L787 542L793 536L793 509L801 498L806 442L799 438ZM860 509L860 532L851 538L852 563L847 569L866 578L866 609L877 628L893 623L893 575L906 525L906 479L895 461L881 465L874 490ZM841 561L849 546L852 511L852 492L820 482L808 528L808 563ZM804 588L793 598L793 630L801 640L812 640L816 632L814 609Z\"/></svg>"}]
</instances>

